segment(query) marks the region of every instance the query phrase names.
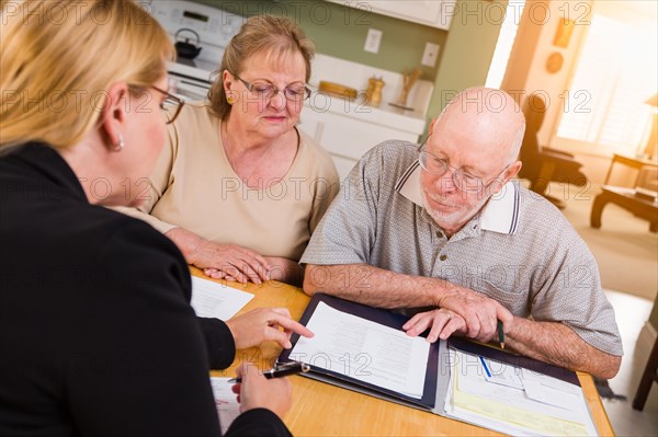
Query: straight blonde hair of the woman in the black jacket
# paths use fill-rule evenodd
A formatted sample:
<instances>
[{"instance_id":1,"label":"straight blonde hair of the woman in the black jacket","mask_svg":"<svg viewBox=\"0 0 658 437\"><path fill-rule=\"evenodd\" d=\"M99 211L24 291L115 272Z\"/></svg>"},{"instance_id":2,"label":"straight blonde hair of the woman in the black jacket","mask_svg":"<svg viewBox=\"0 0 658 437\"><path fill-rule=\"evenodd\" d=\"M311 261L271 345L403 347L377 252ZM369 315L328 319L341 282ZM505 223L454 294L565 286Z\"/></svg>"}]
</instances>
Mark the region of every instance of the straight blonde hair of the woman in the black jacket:
<instances>
[{"instance_id":1,"label":"straight blonde hair of the woman in the black jacket","mask_svg":"<svg viewBox=\"0 0 658 437\"><path fill-rule=\"evenodd\" d=\"M167 33L131 0L1 7L0 151L26 141L78 143L97 126L111 84L150 87L174 56Z\"/></svg>"}]
</instances>

